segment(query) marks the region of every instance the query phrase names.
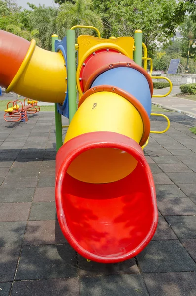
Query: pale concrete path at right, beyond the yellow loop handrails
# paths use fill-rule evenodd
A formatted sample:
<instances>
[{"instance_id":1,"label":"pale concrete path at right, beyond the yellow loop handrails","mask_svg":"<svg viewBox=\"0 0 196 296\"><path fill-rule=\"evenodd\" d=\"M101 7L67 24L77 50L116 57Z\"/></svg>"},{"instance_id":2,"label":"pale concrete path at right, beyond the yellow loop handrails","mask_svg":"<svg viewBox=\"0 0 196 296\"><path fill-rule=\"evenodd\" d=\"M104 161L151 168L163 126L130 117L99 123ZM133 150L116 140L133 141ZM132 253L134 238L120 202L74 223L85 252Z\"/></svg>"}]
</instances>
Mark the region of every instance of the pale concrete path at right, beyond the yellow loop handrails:
<instances>
[{"instance_id":1,"label":"pale concrete path at right, beyond the yellow loop handrails","mask_svg":"<svg viewBox=\"0 0 196 296\"><path fill-rule=\"evenodd\" d=\"M155 89L154 95L166 94L169 91L169 87L164 89ZM165 106L168 109L173 109L179 112L189 113L196 116L196 101L187 100L182 97L176 97L175 94L180 93L179 86L173 86L172 92L165 98L152 98L153 103Z\"/></svg>"}]
</instances>

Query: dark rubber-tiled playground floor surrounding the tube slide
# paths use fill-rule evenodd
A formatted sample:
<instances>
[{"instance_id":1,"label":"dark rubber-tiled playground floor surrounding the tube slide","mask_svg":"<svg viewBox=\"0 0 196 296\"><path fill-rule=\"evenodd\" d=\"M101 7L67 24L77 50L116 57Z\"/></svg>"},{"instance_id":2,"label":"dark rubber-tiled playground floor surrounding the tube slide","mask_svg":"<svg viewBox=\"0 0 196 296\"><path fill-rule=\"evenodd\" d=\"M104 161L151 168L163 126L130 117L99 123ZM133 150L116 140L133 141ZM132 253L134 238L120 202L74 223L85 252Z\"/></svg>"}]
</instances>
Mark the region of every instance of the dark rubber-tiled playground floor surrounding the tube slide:
<instances>
[{"instance_id":1,"label":"dark rubber-tiled playground floor surrounding the tube slide","mask_svg":"<svg viewBox=\"0 0 196 296\"><path fill-rule=\"evenodd\" d=\"M54 113L14 124L0 112L0 296L196 296L196 120L167 115L170 130L146 148L157 232L137 258L107 265L88 263L59 229Z\"/></svg>"}]
</instances>

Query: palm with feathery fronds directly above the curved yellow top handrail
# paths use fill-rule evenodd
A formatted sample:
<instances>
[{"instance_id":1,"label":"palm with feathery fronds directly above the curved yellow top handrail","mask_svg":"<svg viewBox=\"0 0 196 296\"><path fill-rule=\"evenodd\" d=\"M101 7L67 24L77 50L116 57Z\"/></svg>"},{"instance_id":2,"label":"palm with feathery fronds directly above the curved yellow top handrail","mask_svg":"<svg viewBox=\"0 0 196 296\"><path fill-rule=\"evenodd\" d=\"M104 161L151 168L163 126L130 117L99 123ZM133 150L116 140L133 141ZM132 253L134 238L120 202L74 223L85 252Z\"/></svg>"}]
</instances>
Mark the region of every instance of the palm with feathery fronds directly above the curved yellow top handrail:
<instances>
[{"instance_id":1,"label":"palm with feathery fronds directly above the curved yellow top handrail","mask_svg":"<svg viewBox=\"0 0 196 296\"><path fill-rule=\"evenodd\" d=\"M92 8L92 0L75 0L74 4L70 1L66 1L59 8L58 22L63 27L67 27L67 29L75 25L85 25L97 27L100 32L102 32L102 19ZM83 34L87 32L88 34L92 34L90 31L92 30L81 29Z\"/></svg>"}]
</instances>

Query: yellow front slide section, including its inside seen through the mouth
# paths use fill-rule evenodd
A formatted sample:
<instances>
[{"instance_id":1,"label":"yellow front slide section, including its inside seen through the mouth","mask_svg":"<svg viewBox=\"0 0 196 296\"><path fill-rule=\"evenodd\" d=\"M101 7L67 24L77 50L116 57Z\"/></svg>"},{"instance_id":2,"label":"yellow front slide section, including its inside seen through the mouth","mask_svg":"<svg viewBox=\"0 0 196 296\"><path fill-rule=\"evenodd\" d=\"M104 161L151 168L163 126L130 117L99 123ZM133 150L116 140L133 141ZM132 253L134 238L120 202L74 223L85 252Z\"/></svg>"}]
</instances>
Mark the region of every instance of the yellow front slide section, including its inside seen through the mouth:
<instances>
[{"instance_id":1,"label":"yellow front slide section, including its inside seen through the mouth","mask_svg":"<svg viewBox=\"0 0 196 296\"><path fill-rule=\"evenodd\" d=\"M139 112L128 100L116 93L97 92L78 108L65 143L78 135L95 131L119 133L139 143L143 129ZM125 151L96 148L80 154L71 163L68 174L83 182L108 183L128 176L136 165L135 158Z\"/></svg>"}]
</instances>

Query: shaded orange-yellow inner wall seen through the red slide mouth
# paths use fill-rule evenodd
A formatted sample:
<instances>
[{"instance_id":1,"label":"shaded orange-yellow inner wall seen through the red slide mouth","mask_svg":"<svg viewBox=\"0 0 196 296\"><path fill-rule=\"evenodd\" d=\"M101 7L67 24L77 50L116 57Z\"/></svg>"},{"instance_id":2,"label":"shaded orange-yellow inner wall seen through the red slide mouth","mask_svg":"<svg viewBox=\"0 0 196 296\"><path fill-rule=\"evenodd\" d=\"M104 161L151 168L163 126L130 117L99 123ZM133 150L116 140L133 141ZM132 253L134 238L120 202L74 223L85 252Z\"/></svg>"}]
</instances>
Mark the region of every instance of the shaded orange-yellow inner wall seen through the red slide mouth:
<instances>
[{"instance_id":1,"label":"shaded orange-yellow inner wall seen through the red slide mouth","mask_svg":"<svg viewBox=\"0 0 196 296\"><path fill-rule=\"evenodd\" d=\"M109 183L128 176L137 160L117 148L95 148L84 151L70 164L68 174L87 183Z\"/></svg>"}]
</instances>

